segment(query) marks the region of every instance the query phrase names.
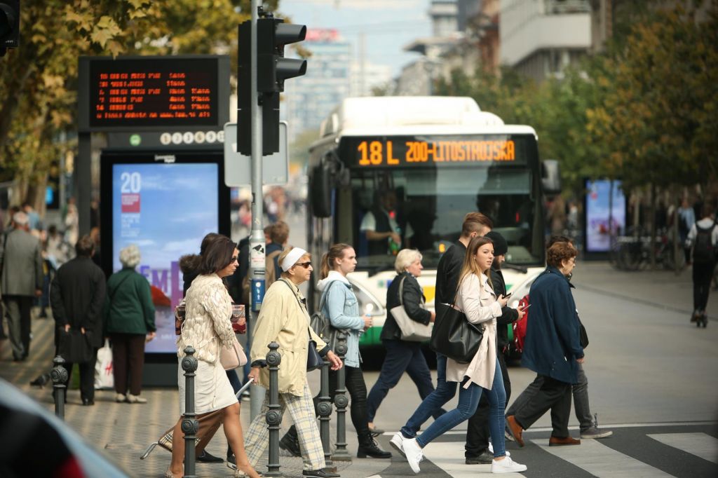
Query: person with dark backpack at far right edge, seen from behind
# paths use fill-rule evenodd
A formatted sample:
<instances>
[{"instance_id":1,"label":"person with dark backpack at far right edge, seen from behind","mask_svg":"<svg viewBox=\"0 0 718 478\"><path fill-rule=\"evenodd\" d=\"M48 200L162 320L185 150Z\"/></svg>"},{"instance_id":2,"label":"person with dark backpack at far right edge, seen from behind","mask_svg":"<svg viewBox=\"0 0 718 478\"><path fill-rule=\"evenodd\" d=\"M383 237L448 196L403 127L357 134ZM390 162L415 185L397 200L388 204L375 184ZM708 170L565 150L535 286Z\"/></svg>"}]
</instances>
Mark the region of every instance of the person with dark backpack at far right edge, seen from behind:
<instances>
[{"instance_id":1,"label":"person with dark backpack at far right edge, seen from behind","mask_svg":"<svg viewBox=\"0 0 718 478\"><path fill-rule=\"evenodd\" d=\"M718 253L718 225L711 202L703 205L702 219L688 233L686 245L693 248L693 314L691 322L707 327L706 306Z\"/></svg>"}]
</instances>

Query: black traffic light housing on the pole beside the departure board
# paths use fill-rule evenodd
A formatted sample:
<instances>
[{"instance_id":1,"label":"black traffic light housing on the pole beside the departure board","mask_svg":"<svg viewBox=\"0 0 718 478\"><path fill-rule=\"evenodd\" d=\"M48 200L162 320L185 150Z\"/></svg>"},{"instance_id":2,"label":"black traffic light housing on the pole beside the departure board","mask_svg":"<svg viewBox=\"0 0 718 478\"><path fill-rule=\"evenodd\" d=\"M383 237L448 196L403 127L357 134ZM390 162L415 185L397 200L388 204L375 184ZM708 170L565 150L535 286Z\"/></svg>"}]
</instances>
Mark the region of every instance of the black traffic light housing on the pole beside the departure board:
<instances>
[{"instance_id":1,"label":"black traffic light housing on the pole beside the departure board","mask_svg":"<svg viewBox=\"0 0 718 478\"><path fill-rule=\"evenodd\" d=\"M239 26L237 72L237 150L252 151L251 22ZM279 93L284 80L307 72L307 60L284 58L284 45L301 42L307 35L304 25L284 24L270 15L257 19L257 90L262 108L262 155L279 151Z\"/></svg>"}]
</instances>

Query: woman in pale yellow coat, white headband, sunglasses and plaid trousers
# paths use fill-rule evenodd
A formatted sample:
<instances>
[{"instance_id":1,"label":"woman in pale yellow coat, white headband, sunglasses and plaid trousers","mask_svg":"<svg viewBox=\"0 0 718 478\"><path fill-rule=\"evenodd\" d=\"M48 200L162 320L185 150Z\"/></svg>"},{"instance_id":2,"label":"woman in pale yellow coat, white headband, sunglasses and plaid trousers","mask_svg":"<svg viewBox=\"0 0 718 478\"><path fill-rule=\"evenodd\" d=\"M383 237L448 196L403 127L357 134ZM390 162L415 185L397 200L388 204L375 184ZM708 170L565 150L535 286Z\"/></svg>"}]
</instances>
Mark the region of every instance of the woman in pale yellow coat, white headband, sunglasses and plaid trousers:
<instances>
[{"instance_id":1,"label":"woman in pale yellow coat, white headband, sunglasses and plaid trousers","mask_svg":"<svg viewBox=\"0 0 718 478\"><path fill-rule=\"evenodd\" d=\"M297 428L299 445L304 458L303 477L339 477L327 472L324 467L324 449L317 428L312 390L307 383L307 345L313 340L320 355L325 356L332 370L339 370L342 361L325 342L309 327L309 313L306 301L299 291L299 284L312 276L312 256L301 248L287 248L279 255L279 266L283 271L281 279L267 289L262 308L254 327L250 360L252 370L249 377L255 383L267 388L261 412L252 421L245 447L249 462L254 465L264 454L269 430L266 413L269 410L269 370L265 357L269 344L279 344L279 405L281 412L289 410Z\"/></svg>"}]
</instances>

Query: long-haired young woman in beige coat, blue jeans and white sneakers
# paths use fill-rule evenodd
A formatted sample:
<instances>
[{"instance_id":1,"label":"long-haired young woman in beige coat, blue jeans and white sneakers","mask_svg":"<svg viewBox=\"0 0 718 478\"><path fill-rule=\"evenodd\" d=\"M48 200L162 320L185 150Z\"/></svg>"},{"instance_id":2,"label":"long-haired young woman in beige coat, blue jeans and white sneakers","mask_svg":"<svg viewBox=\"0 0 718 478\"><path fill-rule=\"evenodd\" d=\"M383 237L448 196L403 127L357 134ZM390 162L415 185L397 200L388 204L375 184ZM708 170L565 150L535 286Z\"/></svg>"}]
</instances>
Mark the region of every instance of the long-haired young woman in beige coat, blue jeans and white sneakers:
<instances>
[{"instance_id":1,"label":"long-haired young woman in beige coat, blue jeans and white sneakers","mask_svg":"<svg viewBox=\"0 0 718 478\"><path fill-rule=\"evenodd\" d=\"M526 471L526 466L506 456L504 446L503 413L506 392L496 359L496 317L500 317L501 307L506 305L508 299L505 296L497 298L491 289L489 271L493 257L493 243L489 238L473 238L467 247L455 306L464 311L469 322L483 325L483 339L470 363L447 360L447 382L461 383L457 408L437 418L420 436L403 441L402 449L414 473L419 473L421 449L454 426L468 420L476 411L482 393L486 394L491 406L489 431L494 450L491 472Z\"/></svg>"}]
</instances>

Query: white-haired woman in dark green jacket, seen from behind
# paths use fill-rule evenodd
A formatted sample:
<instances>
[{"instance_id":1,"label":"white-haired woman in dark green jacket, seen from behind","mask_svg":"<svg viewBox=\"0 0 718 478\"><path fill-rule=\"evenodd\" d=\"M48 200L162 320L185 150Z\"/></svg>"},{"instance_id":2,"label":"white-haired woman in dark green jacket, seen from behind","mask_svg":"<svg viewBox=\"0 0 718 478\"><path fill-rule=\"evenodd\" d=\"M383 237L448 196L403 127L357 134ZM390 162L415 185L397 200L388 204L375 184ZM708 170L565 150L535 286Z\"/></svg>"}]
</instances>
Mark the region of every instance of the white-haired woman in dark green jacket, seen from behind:
<instances>
[{"instance_id":1,"label":"white-haired woman in dark green jacket, seen from behind","mask_svg":"<svg viewBox=\"0 0 718 478\"><path fill-rule=\"evenodd\" d=\"M115 400L146 403L139 396L144 365L144 345L154 339L154 305L149 282L134 269L140 261L139 248L131 244L120 251L122 270L107 281L105 330L112 341ZM127 378L129 375L129 390Z\"/></svg>"}]
</instances>

